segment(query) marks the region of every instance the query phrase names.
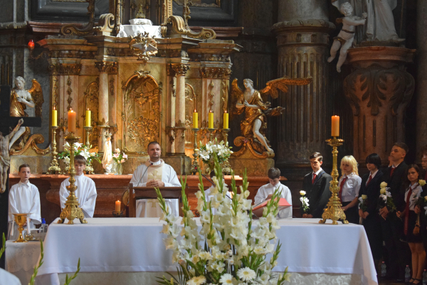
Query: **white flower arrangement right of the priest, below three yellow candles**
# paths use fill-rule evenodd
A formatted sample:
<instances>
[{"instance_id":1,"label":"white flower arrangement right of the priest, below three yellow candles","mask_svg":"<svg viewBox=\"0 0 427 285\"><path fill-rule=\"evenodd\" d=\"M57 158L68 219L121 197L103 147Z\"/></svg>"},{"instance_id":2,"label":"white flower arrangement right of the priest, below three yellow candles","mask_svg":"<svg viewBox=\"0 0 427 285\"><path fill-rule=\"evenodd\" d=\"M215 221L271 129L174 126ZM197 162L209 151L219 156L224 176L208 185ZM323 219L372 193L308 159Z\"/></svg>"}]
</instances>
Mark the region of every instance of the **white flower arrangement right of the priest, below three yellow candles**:
<instances>
[{"instance_id":1,"label":"white flower arrangement right of the priest, below three yellow candles","mask_svg":"<svg viewBox=\"0 0 427 285\"><path fill-rule=\"evenodd\" d=\"M202 143L199 142L199 149L196 151L201 161L209 166L209 168L206 170L206 173L214 170L214 155L216 155L219 163L223 163L226 162L228 157L230 157L233 153L231 151L231 147L228 147L228 142L221 140L221 142L218 143L216 138L214 142L209 141L206 143L206 145L202 145Z\"/></svg>"}]
</instances>

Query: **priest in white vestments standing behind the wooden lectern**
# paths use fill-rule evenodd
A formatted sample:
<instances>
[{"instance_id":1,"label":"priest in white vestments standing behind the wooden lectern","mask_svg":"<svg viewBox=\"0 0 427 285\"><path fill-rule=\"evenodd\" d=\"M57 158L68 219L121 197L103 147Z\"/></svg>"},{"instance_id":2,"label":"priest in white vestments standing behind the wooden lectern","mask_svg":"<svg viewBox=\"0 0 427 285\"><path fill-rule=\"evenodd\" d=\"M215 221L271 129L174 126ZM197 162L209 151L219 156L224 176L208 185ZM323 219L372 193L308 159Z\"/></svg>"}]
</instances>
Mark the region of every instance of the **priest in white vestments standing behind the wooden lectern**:
<instances>
[{"instance_id":1,"label":"priest in white vestments standing behind the wooden lectern","mask_svg":"<svg viewBox=\"0 0 427 285\"><path fill-rule=\"evenodd\" d=\"M149 160L137 167L130 182L135 187L181 187L174 168L160 159L162 149L159 142L150 142L147 152ZM178 216L178 199L165 200L172 212ZM138 199L136 212L137 217L162 217L162 209L157 199Z\"/></svg>"}]
</instances>

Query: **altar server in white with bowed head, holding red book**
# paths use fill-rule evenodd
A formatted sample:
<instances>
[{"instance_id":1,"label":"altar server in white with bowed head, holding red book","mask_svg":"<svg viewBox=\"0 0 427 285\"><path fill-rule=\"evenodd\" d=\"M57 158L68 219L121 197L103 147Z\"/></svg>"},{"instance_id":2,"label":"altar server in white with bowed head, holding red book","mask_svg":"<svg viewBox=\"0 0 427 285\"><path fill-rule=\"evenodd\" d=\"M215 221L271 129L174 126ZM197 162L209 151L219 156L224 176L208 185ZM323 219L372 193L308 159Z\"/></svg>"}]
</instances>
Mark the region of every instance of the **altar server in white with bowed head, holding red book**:
<instances>
[{"instance_id":1,"label":"altar server in white with bowed head, holding red book","mask_svg":"<svg viewBox=\"0 0 427 285\"><path fill-rule=\"evenodd\" d=\"M255 195L255 205L264 202L265 200L271 199L276 189L280 191L280 198L285 198L291 207L282 209L278 212L278 219L285 219L292 217L292 196L288 187L280 183L280 170L275 167L271 167L268 170L268 180L270 183L261 186Z\"/></svg>"}]
</instances>

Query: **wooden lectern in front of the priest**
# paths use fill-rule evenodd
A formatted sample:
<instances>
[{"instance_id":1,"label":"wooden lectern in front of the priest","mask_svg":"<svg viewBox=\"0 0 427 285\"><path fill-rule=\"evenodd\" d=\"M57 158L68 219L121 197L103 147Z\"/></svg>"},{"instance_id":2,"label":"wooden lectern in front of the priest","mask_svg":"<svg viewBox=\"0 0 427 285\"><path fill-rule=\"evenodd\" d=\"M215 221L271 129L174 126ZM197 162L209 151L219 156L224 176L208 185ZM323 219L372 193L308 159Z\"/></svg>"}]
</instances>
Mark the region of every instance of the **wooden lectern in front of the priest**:
<instances>
[{"instance_id":1,"label":"wooden lectern in front of the priest","mask_svg":"<svg viewBox=\"0 0 427 285\"><path fill-rule=\"evenodd\" d=\"M185 186L188 187L187 185ZM164 199L179 199L179 215L181 216L182 187L158 187ZM137 217L137 199L157 199L154 187L134 187L129 183L129 217Z\"/></svg>"}]
</instances>

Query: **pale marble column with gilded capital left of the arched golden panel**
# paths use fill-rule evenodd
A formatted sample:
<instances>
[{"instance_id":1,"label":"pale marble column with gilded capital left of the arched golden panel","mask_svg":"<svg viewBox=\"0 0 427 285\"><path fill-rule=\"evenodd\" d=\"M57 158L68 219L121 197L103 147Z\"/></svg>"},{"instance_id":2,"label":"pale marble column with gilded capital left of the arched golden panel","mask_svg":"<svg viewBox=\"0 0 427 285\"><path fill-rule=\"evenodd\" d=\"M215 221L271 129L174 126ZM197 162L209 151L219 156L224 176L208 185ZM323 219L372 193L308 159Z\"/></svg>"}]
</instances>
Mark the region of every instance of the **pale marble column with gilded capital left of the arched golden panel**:
<instances>
[{"instance_id":1,"label":"pale marble column with gilded capital left of the arched golden panel","mask_svg":"<svg viewBox=\"0 0 427 285\"><path fill-rule=\"evenodd\" d=\"M117 73L115 62L97 61L95 67L100 72L100 88L98 96L98 152L103 155L105 144L105 130L109 128L109 105L108 105L108 73Z\"/></svg>"}]
</instances>

